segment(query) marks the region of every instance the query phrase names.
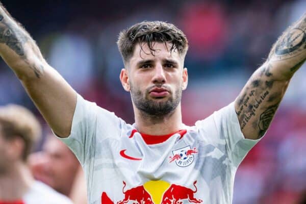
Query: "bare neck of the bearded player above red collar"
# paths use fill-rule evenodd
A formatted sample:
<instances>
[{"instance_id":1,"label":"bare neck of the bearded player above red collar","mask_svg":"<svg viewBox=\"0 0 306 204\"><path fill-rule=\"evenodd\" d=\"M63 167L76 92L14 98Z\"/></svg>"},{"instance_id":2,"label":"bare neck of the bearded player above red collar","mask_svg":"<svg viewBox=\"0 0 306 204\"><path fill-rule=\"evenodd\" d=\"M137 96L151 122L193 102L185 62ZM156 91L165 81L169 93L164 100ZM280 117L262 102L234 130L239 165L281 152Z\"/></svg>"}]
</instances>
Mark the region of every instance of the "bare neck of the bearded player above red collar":
<instances>
[{"instance_id":1,"label":"bare neck of the bearded player above red collar","mask_svg":"<svg viewBox=\"0 0 306 204\"><path fill-rule=\"evenodd\" d=\"M181 106L163 117L150 116L134 107L136 129L147 135L167 135L184 129Z\"/></svg>"}]
</instances>

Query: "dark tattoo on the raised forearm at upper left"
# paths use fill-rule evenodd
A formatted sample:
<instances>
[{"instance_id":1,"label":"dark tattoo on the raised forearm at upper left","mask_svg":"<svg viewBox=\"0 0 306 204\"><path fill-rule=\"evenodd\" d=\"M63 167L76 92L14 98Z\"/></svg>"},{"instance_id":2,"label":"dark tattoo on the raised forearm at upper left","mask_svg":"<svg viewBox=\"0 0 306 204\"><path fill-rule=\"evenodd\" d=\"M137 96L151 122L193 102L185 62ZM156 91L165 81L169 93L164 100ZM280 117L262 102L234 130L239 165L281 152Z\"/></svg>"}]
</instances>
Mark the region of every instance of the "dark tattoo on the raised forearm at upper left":
<instances>
[{"instance_id":1,"label":"dark tattoo on the raised forearm at upper left","mask_svg":"<svg viewBox=\"0 0 306 204\"><path fill-rule=\"evenodd\" d=\"M19 27L13 19L1 12L4 11L0 11L0 43L4 43L10 47L26 64L29 65L28 67L34 71L36 77L40 78L40 75L43 72L43 66L41 64L37 65L37 63L29 62L24 49L25 43L28 42L32 43L32 48L37 45L34 40L31 39L30 35L23 31L21 26ZM33 53L37 54L35 50ZM37 55L40 57L39 55L41 54L38 53Z\"/></svg>"}]
</instances>

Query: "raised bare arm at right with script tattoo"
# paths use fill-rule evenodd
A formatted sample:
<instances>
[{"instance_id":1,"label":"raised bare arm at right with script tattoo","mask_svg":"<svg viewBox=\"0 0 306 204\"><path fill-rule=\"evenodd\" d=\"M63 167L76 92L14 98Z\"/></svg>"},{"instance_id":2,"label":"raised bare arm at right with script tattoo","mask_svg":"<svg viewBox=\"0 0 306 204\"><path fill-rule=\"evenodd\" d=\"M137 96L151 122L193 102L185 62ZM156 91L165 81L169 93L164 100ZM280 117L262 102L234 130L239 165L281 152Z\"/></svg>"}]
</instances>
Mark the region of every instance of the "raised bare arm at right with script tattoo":
<instances>
[{"instance_id":1,"label":"raised bare arm at right with script tattoo","mask_svg":"<svg viewBox=\"0 0 306 204\"><path fill-rule=\"evenodd\" d=\"M267 61L251 75L235 100L245 138L259 139L265 134L293 74L305 60L306 13L278 38Z\"/></svg>"}]
</instances>

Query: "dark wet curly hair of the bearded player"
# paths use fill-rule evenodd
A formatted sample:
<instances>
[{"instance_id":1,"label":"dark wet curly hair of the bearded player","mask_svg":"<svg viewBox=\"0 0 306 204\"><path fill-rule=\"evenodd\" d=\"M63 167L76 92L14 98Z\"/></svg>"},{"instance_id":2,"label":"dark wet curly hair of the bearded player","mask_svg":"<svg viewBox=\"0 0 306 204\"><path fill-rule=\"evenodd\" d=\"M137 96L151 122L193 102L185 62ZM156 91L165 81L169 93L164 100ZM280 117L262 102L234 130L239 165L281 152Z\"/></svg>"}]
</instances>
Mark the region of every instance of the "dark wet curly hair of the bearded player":
<instances>
[{"instance_id":1,"label":"dark wet curly hair of the bearded player","mask_svg":"<svg viewBox=\"0 0 306 204\"><path fill-rule=\"evenodd\" d=\"M153 48L155 42L170 42L172 44L170 52L177 50L184 56L188 50L188 40L180 29L175 25L163 21L143 21L136 23L129 29L120 32L117 45L122 56L123 62L130 60L134 53L137 43L140 43L141 50L144 44L150 49L150 54L155 55L156 49Z\"/></svg>"}]
</instances>

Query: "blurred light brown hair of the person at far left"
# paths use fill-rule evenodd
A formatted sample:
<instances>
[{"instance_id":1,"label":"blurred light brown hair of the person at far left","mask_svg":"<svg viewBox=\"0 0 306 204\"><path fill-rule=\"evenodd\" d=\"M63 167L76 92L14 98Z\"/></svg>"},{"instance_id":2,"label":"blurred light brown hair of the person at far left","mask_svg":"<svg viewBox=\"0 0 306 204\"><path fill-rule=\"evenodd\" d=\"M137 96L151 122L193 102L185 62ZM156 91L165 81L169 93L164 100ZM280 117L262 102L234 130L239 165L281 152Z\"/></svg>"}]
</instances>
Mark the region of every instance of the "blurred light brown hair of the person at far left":
<instances>
[{"instance_id":1,"label":"blurred light brown hair of the person at far left","mask_svg":"<svg viewBox=\"0 0 306 204\"><path fill-rule=\"evenodd\" d=\"M0 107L0 133L6 140L17 137L24 141L22 160L27 160L32 147L41 135L41 125L26 108L18 105Z\"/></svg>"}]
</instances>

